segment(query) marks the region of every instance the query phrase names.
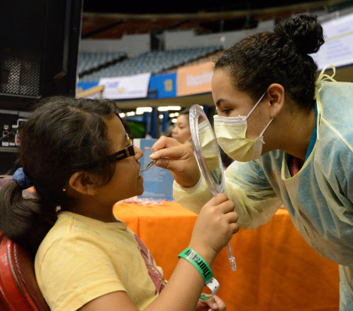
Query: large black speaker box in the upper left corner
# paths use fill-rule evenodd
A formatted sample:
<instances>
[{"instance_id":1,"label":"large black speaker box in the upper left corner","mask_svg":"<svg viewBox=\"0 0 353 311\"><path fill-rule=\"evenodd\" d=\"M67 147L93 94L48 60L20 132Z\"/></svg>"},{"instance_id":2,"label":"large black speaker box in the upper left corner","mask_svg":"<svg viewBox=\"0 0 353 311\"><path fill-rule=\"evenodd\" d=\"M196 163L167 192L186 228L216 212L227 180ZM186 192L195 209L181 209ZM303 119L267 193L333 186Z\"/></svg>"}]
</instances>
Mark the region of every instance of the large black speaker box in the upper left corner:
<instances>
[{"instance_id":1,"label":"large black speaker box in the upper left corner","mask_svg":"<svg viewBox=\"0 0 353 311\"><path fill-rule=\"evenodd\" d=\"M0 1L0 108L74 95L83 0Z\"/></svg>"}]
</instances>

